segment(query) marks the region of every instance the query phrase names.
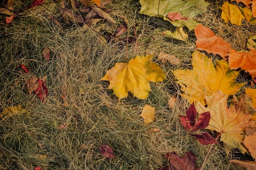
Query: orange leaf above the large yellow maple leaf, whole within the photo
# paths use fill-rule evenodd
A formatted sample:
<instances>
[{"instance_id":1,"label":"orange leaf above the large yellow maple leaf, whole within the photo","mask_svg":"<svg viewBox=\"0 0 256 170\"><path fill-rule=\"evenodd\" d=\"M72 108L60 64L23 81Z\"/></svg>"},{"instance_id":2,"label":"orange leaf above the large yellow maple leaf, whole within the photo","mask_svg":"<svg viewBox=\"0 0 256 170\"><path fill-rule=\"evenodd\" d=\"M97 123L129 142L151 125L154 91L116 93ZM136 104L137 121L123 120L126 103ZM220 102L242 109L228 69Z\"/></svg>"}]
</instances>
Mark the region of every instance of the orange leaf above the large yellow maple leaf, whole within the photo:
<instances>
[{"instance_id":1,"label":"orange leaf above the large yellow maple leaf, whole within the photo","mask_svg":"<svg viewBox=\"0 0 256 170\"><path fill-rule=\"evenodd\" d=\"M204 50L207 53L213 53L213 55L219 54L224 59L230 50L234 50L230 43L216 36L213 31L201 24L195 27L195 37L197 50Z\"/></svg>"}]
</instances>

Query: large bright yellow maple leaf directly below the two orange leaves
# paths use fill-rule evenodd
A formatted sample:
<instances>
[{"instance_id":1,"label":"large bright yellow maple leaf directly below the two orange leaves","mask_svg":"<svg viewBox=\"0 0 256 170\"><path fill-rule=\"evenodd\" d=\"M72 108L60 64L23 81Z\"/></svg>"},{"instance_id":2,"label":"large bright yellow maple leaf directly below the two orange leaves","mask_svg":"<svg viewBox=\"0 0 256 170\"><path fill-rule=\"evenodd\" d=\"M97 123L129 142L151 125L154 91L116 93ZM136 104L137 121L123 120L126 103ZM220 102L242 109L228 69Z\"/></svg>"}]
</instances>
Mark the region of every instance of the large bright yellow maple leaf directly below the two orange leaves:
<instances>
[{"instance_id":1,"label":"large bright yellow maple leaf directly below the two orange leaves","mask_svg":"<svg viewBox=\"0 0 256 170\"><path fill-rule=\"evenodd\" d=\"M193 70L175 70L173 74L181 86L182 96L192 104L196 100L206 105L205 97L221 90L227 95L236 94L244 83L237 84L238 71L230 70L224 60L217 60L214 67L212 59L199 51L192 54Z\"/></svg>"}]
</instances>

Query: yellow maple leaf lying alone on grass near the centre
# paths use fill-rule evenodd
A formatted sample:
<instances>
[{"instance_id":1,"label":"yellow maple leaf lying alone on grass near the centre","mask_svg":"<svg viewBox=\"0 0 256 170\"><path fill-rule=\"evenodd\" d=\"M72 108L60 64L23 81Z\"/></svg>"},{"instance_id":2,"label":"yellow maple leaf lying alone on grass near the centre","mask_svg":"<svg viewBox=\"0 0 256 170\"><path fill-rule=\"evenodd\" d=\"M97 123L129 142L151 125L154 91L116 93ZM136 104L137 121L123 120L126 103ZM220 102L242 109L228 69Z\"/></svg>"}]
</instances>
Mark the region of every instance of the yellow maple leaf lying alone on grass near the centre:
<instances>
[{"instance_id":1,"label":"yellow maple leaf lying alone on grass near the centre","mask_svg":"<svg viewBox=\"0 0 256 170\"><path fill-rule=\"evenodd\" d=\"M110 81L108 89L120 99L127 97L128 91L138 99L146 99L150 91L151 82L166 79L164 71L153 62L153 55L137 55L128 63L117 63L106 72L100 80Z\"/></svg>"}]
</instances>

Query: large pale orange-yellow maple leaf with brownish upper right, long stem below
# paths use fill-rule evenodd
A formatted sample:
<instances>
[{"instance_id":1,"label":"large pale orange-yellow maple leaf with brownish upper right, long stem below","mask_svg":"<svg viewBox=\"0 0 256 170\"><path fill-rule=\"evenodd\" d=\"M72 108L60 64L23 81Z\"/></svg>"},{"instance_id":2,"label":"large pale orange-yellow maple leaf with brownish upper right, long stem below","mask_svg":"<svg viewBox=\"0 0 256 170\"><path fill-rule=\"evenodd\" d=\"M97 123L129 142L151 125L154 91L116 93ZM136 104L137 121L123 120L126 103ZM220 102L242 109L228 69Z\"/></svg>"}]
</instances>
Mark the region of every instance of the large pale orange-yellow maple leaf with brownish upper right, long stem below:
<instances>
[{"instance_id":1,"label":"large pale orange-yellow maple leaf with brownish upper right, long stem below","mask_svg":"<svg viewBox=\"0 0 256 170\"><path fill-rule=\"evenodd\" d=\"M199 101L195 102L198 113L209 111L211 119L206 129L219 132L220 141L223 141L227 154L230 150L238 148L243 154L246 148L241 144L244 136L245 126L255 111L248 95L233 96L229 108L227 108L227 98L229 96L222 91L217 91L206 97L207 108Z\"/></svg>"}]
</instances>

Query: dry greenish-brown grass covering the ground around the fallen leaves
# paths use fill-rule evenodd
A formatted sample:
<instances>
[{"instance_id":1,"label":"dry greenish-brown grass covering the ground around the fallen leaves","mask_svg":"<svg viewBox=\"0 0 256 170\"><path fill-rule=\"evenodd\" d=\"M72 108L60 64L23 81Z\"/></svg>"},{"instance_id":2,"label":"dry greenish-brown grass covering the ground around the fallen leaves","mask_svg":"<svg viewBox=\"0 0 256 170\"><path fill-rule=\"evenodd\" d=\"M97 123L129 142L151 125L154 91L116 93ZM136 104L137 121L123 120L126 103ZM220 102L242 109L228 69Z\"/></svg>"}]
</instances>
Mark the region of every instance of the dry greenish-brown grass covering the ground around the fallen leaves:
<instances>
[{"instance_id":1,"label":"dry greenish-brown grass covering the ground around the fallen leaves","mask_svg":"<svg viewBox=\"0 0 256 170\"><path fill-rule=\"evenodd\" d=\"M211 2L208 11L197 17L216 35L230 42L236 50L245 49L246 40L254 35L255 26L223 23L219 7L223 1ZM29 2L27 2L29 4ZM16 2L15 8L25 9L25 2ZM240 5L240 4L239 4ZM45 8L49 11L45 10ZM140 46L120 47L105 43L93 28L83 29L61 20L63 29L46 20L50 11L58 15L54 2L47 1L15 19L12 26L0 27L0 110L8 106L25 106L27 114L12 115L0 120L0 169L32 170L40 166L43 170L154 170L166 165L166 152L175 151L180 156L192 150L198 155L201 166L210 146L200 145L187 135L177 115L184 115L189 104L180 96L170 70L192 68L190 57L195 50L193 31L187 42L170 40L160 36L166 29L175 30L170 23L158 18L149 18L138 13L136 0L116 0L108 7L117 24L104 22L110 31L128 20L128 29L137 26ZM53 15L55 16L55 15ZM154 41L150 35L156 38ZM126 35L124 35L125 37ZM51 59L46 62L42 50L47 46ZM182 64L162 64L154 57L166 73L167 80L151 83L152 92L146 100L136 99L131 94L118 102L108 90L108 82L99 81L106 71L117 62L126 62L135 55L166 52L177 56ZM218 56L213 56L214 59ZM18 66L23 63L29 73ZM49 96L42 103L35 95L27 94L23 88L31 75L48 76L46 86ZM244 81L239 79L238 81ZM69 106L63 106L62 86L67 89ZM168 107L168 99L177 95L175 108ZM155 107L155 121L145 125L138 117L144 104ZM67 128L58 129L60 124ZM151 128L159 132L150 133ZM99 146L109 144L116 159L105 159ZM227 170L231 168L225 151L218 145L204 166L204 170ZM47 155L46 159L40 158Z\"/></svg>"}]
</instances>

